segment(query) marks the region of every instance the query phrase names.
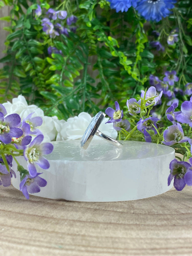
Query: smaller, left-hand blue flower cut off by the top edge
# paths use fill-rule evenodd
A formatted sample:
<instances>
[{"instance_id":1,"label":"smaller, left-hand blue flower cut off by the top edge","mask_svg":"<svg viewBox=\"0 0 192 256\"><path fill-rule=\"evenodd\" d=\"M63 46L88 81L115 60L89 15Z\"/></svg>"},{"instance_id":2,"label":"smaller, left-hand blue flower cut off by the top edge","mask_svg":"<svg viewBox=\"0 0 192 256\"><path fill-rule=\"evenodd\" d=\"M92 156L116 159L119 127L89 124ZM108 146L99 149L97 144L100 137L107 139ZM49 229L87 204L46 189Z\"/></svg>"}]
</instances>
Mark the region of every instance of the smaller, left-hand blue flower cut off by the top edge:
<instances>
[{"instance_id":1,"label":"smaller, left-hand blue flower cut off by the top edge","mask_svg":"<svg viewBox=\"0 0 192 256\"><path fill-rule=\"evenodd\" d=\"M134 8L137 6L136 0L108 0L111 3L110 7L116 10L116 13L119 11L127 12L128 9L133 6Z\"/></svg>"}]
</instances>

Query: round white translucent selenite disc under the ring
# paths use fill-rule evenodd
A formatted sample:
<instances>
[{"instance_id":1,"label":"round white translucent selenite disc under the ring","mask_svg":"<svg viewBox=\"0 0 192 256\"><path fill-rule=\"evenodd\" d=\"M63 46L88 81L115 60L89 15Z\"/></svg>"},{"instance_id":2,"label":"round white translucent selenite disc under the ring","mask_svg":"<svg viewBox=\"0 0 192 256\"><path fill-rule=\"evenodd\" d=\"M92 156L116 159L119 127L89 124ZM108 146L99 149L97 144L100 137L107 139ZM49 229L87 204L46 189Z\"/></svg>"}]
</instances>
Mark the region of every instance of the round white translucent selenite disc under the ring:
<instances>
[{"instance_id":1,"label":"round white translucent selenite disc under the ring","mask_svg":"<svg viewBox=\"0 0 192 256\"><path fill-rule=\"evenodd\" d=\"M162 194L167 186L169 164L175 158L172 147L155 143L124 141L116 148L104 140L92 141L87 150L80 141L52 142L54 150L46 158L50 168L37 172L47 180L36 196L72 201L127 201ZM18 162L27 168L23 156ZM14 163L13 170L17 170ZM15 171L16 172L16 171ZM19 189L20 175L12 178Z\"/></svg>"}]
</instances>

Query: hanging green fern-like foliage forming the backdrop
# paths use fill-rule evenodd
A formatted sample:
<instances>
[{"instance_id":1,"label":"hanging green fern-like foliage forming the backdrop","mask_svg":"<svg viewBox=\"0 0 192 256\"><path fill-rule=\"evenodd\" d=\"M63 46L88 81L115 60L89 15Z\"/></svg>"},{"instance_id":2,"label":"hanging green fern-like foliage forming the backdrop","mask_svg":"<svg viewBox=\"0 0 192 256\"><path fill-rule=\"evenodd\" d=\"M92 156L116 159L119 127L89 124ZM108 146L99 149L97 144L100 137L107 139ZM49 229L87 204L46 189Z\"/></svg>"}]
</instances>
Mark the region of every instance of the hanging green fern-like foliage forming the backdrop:
<instances>
[{"instance_id":1,"label":"hanging green fern-like foliage forming the backdrop","mask_svg":"<svg viewBox=\"0 0 192 256\"><path fill-rule=\"evenodd\" d=\"M42 14L35 13L37 4ZM6 56L0 71L0 101L22 94L29 104L40 106L46 115L67 119L86 111L95 114L113 105L137 97L149 86L150 74L163 78L166 70L176 70L177 87L184 90L192 73L192 12L190 1L175 4L173 14L159 23L146 23L134 8L116 13L105 0L65 0L40 2L0 1L0 7L12 7L5 45ZM51 20L67 27L68 36L50 37L42 30L49 8L66 10L77 16L76 32L66 19ZM10 24L10 25L9 25ZM73 26L72 25L72 26ZM74 27L73 26L73 27ZM167 44L172 29L179 29L179 40ZM159 31L158 38L152 34ZM158 40L165 51L156 51L150 41ZM48 54L49 47L57 52ZM60 51L60 52L58 52ZM176 95L183 101L183 97ZM166 102L169 100L165 98ZM186 100L186 98L185 98Z\"/></svg>"}]
</instances>

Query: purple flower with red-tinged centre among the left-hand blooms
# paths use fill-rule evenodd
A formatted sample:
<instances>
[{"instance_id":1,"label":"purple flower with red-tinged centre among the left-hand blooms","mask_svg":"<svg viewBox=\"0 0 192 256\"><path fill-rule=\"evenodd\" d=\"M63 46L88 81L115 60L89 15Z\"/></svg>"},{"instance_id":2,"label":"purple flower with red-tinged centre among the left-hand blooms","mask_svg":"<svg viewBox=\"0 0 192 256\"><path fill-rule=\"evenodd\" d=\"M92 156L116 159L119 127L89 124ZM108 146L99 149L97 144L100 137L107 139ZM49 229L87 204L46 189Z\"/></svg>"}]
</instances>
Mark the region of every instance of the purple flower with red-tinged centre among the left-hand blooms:
<instances>
[{"instance_id":1,"label":"purple flower with red-tinged centre among the left-hand blooms","mask_svg":"<svg viewBox=\"0 0 192 256\"><path fill-rule=\"evenodd\" d=\"M27 123L23 123L20 129L23 131L23 135L19 138L13 137L12 142L18 149L24 149L26 145L31 142L32 137L30 134L30 125Z\"/></svg>"}]
</instances>

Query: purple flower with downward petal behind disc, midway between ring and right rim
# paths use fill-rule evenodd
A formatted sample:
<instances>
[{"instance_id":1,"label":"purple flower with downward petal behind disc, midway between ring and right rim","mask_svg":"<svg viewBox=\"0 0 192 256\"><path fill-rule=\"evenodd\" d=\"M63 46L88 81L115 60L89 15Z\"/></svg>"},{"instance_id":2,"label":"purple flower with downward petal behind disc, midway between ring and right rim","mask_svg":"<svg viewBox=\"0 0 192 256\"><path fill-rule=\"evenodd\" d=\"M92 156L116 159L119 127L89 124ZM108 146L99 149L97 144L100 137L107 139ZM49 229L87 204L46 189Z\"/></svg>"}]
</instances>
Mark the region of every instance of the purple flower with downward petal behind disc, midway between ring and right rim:
<instances>
[{"instance_id":1,"label":"purple flower with downward petal behind disc, midway between ring and right rim","mask_svg":"<svg viewBox=\"0 0 192 256\"><path fill-rule=\"evenodd\" d=\"M144 134L146 142L151 142L151 136L147 131L153 130L154 133L157 134L157 121L159 121L158 118L148 117L146 119L140 119L140 121L137 122L137 130ZM153 125L156 127L156 129L154 128Z\"/></svg>"}]
</instances>

